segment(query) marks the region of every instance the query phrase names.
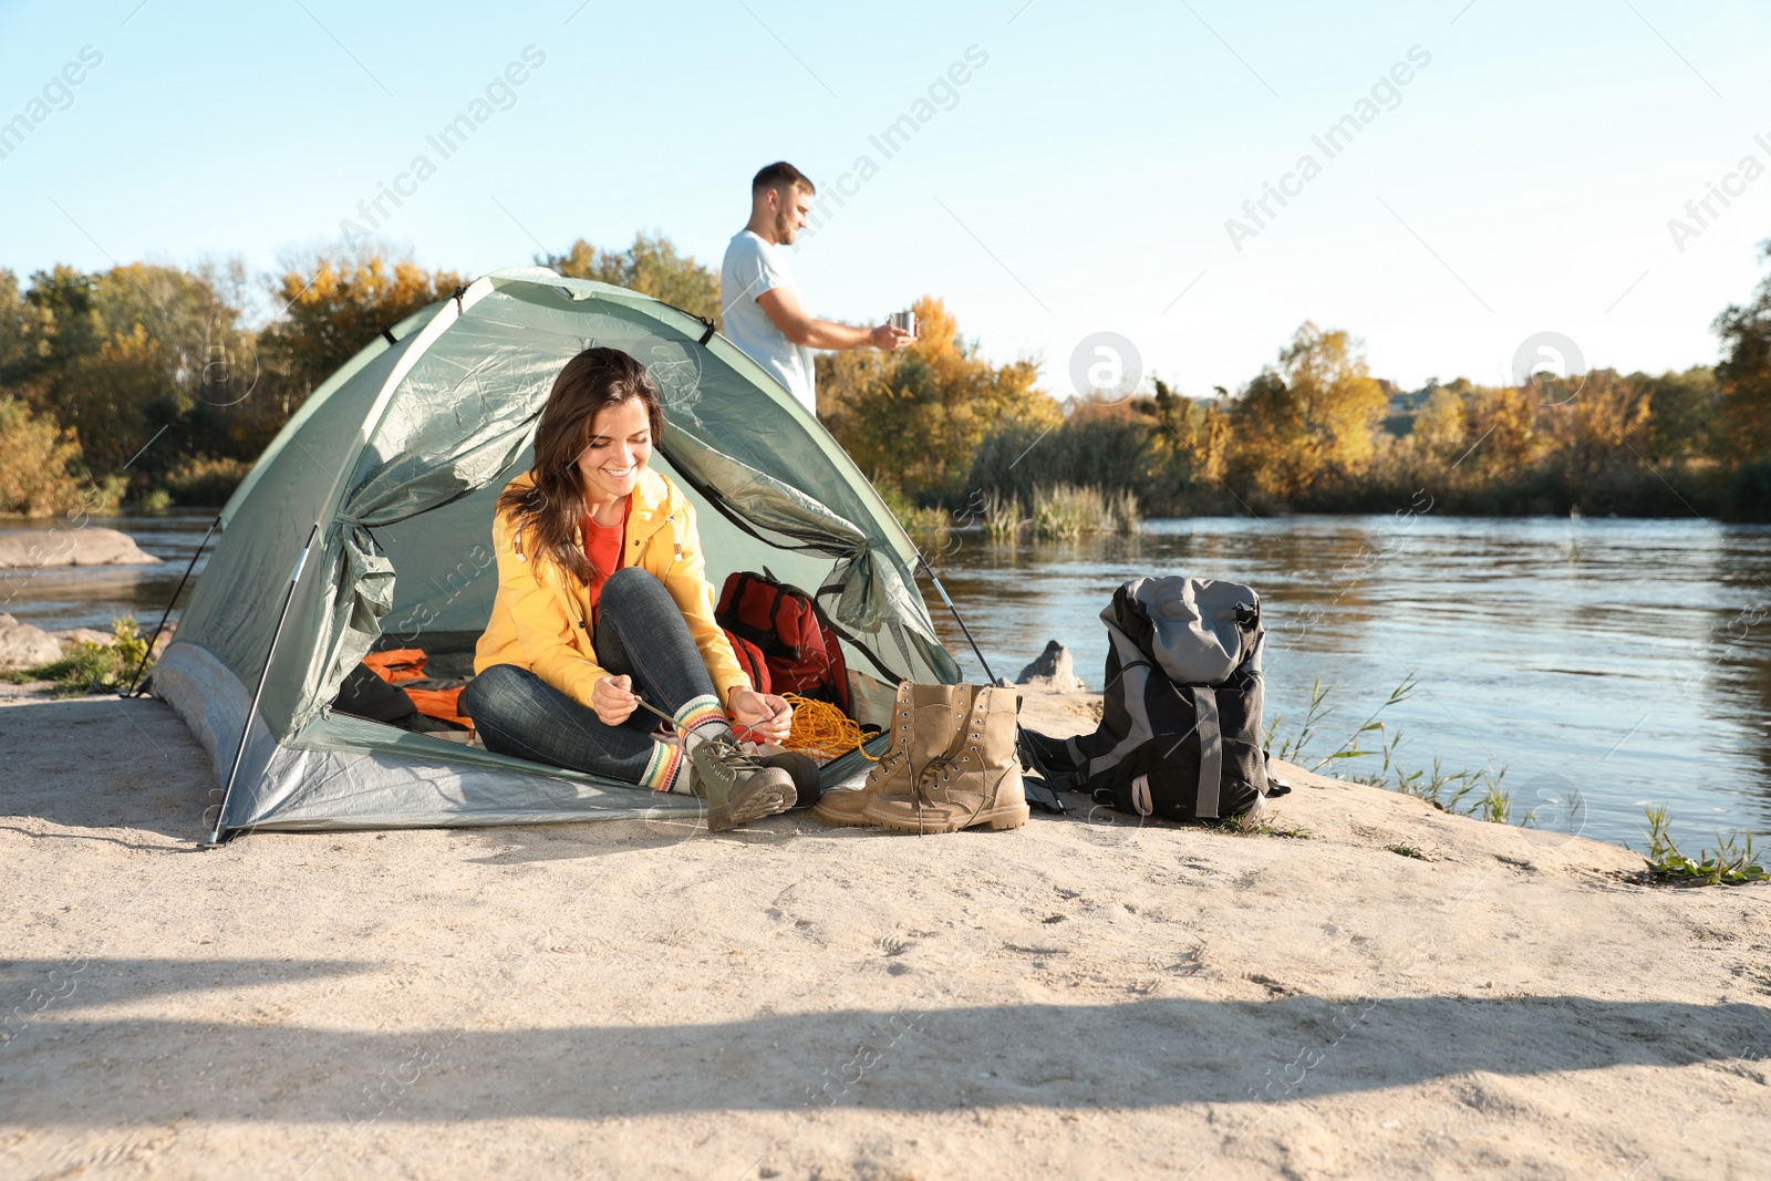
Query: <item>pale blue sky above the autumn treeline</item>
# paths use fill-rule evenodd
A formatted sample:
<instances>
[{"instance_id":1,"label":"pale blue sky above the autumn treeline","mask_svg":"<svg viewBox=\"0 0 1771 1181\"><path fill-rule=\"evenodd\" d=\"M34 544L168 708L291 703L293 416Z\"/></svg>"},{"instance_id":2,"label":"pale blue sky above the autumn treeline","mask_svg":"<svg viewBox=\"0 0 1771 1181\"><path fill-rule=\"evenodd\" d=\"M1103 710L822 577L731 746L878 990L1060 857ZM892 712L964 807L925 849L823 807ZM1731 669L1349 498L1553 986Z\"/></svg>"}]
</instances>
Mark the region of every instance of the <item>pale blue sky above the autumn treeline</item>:
<instances>
[{"instance_id":1,"label":"pale blue sky above the autumn treeline","mask_svg":"<svg viewBox=\"0 0 1771 1181\"><path fill-rule=\"evenodd\" d=\"M988 356L1043 358L1056 393L1079 340L1116 331L1204 395L1305 319L1408 386L1505 381L1539 331L1589 365L1713 361L1709 320L1771 235L1771 175L1713 198L1682 251L1668 230L1744 156L1771 168L1771 14L1741 2L7 4L0 120L83 46L103 64L0 159L21 276L267 271L336 244L418 154L436 174L381 232L425 264L662 230L717 266L749 175L786 158L825 200L793 260L818 313L932 292ZM427 136L526 46L545 62L443 159ZM870 136L971 46L986 64L886 158ZM1429 64L1330 159L1311 136L1411 46ZM1303 154L1319 175L1238 251L1226 220ZM838 209L859 156L878 172Z\"/></svg>"}]
</instances>

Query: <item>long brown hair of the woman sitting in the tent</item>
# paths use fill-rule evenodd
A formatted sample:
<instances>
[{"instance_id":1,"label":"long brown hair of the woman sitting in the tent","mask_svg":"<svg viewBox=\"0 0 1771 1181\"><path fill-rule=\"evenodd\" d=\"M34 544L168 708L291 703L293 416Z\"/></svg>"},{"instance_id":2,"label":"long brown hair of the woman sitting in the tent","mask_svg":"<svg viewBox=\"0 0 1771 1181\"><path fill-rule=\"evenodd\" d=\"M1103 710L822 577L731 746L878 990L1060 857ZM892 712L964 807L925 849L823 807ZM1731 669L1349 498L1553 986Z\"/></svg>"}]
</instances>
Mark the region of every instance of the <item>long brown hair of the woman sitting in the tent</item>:
<instances>
[{"instance_id":1,"label":"long brown hair of the woman sitting in the tent","mask_svg":"<svg viewBox=\"0 0 1771 1181\"><path fill-rule=\"evenodd\" d=\"M577 457L590 446L597 413L639 398L652 423L652 444L664 434L664 405L645 365L620 349L584 349L565 363L535 428L535 487L507 489L498 513L512 513L528 536L524 549L553 558L588 583L597 574L574 538L583 536L590 510L577 478Z\"/></svg>"}]
</instances>

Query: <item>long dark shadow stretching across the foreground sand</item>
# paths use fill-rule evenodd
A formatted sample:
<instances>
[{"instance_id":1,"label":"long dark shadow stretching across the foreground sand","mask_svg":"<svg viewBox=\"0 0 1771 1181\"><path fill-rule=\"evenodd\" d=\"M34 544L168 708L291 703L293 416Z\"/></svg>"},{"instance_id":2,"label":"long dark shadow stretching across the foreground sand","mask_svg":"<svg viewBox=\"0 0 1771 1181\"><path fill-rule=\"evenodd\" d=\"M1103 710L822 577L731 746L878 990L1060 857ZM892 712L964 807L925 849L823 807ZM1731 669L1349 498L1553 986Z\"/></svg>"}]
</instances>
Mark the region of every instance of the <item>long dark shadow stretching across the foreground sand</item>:
<instances>
[{"instance_id":1,"label":"long dark shadow stretching across the foreground sand","mask_svg":"<svg viewBox=\"0 0 1771 1181\"><path fill-rule=\"evenodd\" d=\"M303 1022L301 984L336 992L361 961L14 961L0 1108L16 1124L168 1121L457 1121L816 1114L1036 1105L1259 1103L1404 1087L1468 1073L1532 1077L1713 1062L1762 1080L1771 1009L1585 997L1266 1002L1146 999L758 1015L671 1022L666 1004L607 1025L558 1025L551 992L483 984L404 1032ZM386 967L383 967L386 970ZM271 1022L99 1011L151 997L273 986ZM275 988L275 986L285 988ZM296 992L292 993L290 988ZM30 990L39 990L32 993ZM165 1007L165 1006L161 1006ZM329 1011L340 1011L329 999ZM510 1022L517 1022L512 1025ZM60 1098L80 1096L80 1110ZM717 1096L717 1098L710 1098Z\"/></svg>"}]
</instances>

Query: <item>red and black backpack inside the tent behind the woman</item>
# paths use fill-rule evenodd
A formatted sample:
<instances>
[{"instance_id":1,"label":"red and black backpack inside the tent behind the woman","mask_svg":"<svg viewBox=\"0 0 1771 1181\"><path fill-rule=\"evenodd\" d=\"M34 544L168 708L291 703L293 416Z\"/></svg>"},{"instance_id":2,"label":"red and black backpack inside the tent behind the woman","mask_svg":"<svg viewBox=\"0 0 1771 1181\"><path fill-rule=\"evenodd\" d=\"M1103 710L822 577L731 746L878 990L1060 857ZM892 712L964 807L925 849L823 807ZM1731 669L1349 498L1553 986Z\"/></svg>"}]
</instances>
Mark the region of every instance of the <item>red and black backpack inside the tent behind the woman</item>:
<instances>
[{"instance_id":1,"label":"red and black backpack inside the tent behind the woman","mask_svg":"<svg viewBox=\"0 0 1771 1181\"><path fill-rule=\"evenodd\" d=\"M836 632L811 595L765 574L731 574L714 618L754 645L767 664L769 692L797 692L848 712L848 668ZM739 657L744 662L744 657Z\"/></svg>"}]
</instances>

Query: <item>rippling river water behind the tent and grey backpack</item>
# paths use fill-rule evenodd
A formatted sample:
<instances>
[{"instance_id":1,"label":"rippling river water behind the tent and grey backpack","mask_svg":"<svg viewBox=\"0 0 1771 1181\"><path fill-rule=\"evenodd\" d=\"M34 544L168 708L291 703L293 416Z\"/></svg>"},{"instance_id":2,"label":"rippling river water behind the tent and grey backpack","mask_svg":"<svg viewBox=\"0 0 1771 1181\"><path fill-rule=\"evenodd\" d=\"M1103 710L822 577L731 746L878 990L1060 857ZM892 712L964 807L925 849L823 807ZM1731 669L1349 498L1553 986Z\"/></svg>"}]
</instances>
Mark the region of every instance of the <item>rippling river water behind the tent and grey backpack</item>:
<instances>
[{"instance_id":1,"label":"rippling river water behind the tent and grey backpack","mask_svg":"<svg viewBox=\"0 0 1771 1181\"><path fill-rule=\"evenodd\" d=\"M0 572L0 611L48 629L103 629L122 613L152 627L209 521L94 521L166 563ZM1505 768L1514 820L1537 807L1544 823L1640 848L1643 804L1667 804L1690 852L1716 830L1771 832L1767 526L1197 517L1151 521L1130 538L1002 545L965 533L928 549L999 676L1059 639L1098 689L1098 616L1121 581L1233 579L1266 604L1268 719L1289 733L1311 685L1330 691L1316 758L1415 676L1417 691L1380 714L1388 733L1401 728L1404 767ZM928 598L942 639L981 676L939 597ZM1328 770L1378 767L1358 758Z\"/></svg>"}]
</instances>

